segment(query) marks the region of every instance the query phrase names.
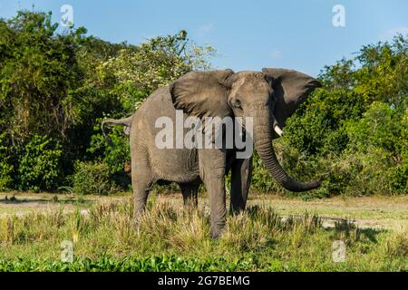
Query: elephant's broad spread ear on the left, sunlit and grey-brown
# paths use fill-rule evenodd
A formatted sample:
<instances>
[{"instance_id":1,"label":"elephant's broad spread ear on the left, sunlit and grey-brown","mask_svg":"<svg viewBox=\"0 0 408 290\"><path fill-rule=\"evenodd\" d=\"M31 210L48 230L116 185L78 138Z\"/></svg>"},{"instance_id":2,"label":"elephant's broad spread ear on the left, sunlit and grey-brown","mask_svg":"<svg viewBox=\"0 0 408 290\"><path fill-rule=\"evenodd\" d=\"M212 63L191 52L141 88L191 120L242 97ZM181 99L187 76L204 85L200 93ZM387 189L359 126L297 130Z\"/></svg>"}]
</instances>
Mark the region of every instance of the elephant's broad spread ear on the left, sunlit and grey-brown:
<instances>
[{"instance_id":1,"label":"elephant's broad spread ear on the left, sunlit and grey-brown","mask_svg":"<svg viewBox=\"0 0 408 290\"><path fill-rule=\"evenodd\" d=\"M186 73L170 84L174 107L199 118L231 115L226 83L233 74L231 70Z\"/></svg>"}]
</instances>

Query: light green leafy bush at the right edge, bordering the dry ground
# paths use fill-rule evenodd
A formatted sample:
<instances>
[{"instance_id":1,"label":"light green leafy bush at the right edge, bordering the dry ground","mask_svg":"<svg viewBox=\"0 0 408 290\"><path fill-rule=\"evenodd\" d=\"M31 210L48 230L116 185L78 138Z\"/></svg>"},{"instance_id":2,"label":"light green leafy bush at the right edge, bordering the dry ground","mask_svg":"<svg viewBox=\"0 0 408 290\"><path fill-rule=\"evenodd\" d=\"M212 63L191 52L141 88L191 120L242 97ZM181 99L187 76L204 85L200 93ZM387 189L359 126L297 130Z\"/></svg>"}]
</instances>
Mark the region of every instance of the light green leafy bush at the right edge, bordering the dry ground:
<instances>
[{"instance_id":1,"label":"light green leafy bush at the right edge, bordering the dry ground","mask_svg":"<svg viewBox=\"0 0 408 290\"><path fill-rule=\"evenodd\" d=\"M393 106L373 102L361 120L347 125L347 153L355 160L356 179L365 179L360 185L368 186L369 191L407 192L408 126L404 118L403 112Z\"/></svg>"}]
</instances>

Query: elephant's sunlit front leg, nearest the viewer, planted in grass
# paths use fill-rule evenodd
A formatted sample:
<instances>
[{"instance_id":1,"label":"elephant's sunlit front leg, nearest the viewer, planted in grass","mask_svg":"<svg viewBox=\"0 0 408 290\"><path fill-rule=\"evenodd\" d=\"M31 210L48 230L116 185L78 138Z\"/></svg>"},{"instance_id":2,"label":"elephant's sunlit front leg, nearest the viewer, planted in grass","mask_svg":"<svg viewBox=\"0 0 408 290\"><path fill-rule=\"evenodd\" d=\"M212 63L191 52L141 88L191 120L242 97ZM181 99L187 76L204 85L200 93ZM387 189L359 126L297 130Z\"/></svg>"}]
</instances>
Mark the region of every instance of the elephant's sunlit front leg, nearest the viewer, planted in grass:
<instances>
[{"instance_id":1,"label":"elephant's sunlit front leg, nearest the viewer, planted in grass","mask_svg":"<svg viewBox=\"0 0 408 290\"><path fill-rule=\"evenodd\" d=\"M223 150L201 150L199 152L200 176L209 195L211 237L222 234L226 219L225 164Z\"/></svg>"}]
</instances>

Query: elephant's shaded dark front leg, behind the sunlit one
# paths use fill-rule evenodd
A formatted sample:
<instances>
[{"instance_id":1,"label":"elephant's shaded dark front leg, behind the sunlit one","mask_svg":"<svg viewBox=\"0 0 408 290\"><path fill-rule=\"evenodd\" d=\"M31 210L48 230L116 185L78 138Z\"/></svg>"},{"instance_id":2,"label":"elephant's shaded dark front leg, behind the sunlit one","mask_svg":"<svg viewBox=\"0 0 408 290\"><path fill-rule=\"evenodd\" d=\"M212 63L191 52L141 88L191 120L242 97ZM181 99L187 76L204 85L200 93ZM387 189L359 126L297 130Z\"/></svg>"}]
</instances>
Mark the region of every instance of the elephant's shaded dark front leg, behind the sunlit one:
<instances>
[{"instance_id":1,"label":"elephant's shaded dark front leg, behind the sunlit one","mask_svg":"<svg viewBox=\"0 0 408 290\"><path fill-rule=\"evenodd\" d=\"M231 166L231 202L229 204L231 214L245 210L251 178L252 157L246 160L234 160Z\"/></svg>"}]
</instances>

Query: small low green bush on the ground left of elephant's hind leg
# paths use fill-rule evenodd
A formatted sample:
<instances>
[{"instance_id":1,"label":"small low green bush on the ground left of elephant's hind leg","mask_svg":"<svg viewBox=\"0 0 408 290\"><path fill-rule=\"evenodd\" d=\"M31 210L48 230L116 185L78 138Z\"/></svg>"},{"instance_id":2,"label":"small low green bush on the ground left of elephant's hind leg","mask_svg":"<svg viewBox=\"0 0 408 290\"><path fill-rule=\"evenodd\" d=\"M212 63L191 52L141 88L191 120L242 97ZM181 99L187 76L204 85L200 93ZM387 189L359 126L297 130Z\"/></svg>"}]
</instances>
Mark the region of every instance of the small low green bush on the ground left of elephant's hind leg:
<instances>
[{"instance_id":1,"label":"small low green bush on the ground left of elephant's hind leg","mask_svg":"<svg viewBox=\"0 0 408 290\"><path fill-rule=\"evenodd\" d=\"M73 192L79 195L107 195L112 191L109 169L102 162L76 162Z\"/></svg>"}]
</instances>

